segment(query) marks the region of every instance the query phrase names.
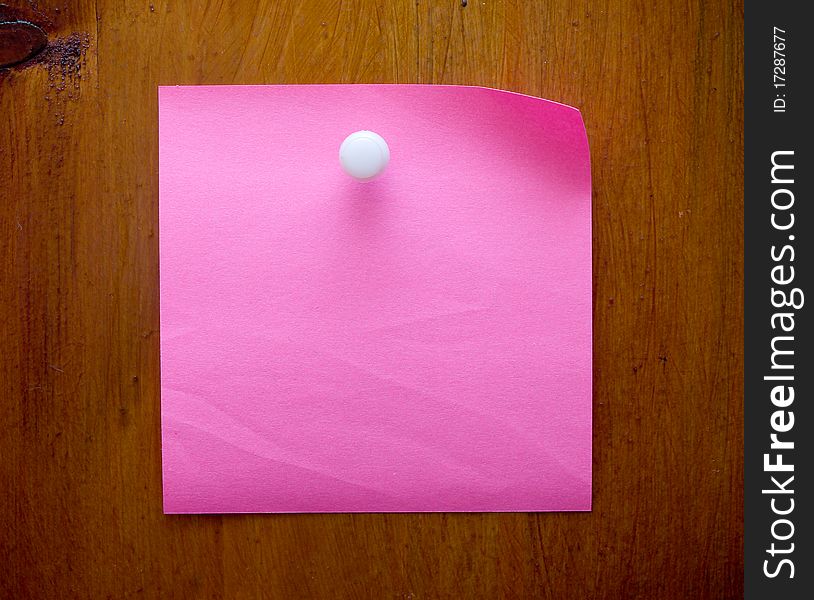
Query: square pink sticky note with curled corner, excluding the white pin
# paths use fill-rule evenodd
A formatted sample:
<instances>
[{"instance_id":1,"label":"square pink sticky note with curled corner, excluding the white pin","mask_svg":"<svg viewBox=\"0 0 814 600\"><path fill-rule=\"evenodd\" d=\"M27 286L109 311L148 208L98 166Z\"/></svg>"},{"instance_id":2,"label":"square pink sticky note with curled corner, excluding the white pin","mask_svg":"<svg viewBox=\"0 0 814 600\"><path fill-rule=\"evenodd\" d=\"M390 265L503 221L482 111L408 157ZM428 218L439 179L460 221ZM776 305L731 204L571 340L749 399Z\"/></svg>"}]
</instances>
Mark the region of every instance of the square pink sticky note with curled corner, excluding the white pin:
<instances>
[{"instance_id":1,"label":"square pink sticky note with curled corner, excluding the white pin","mask_svg":"<svg viewBox=\"0 0 814 600\"><path fill-rule=\"evenodd\" d=\"M159 90L164 510L589 510L579 112L483 88ZM379 133L359 183L343 139Z\"/></svg>"}]
</instances>

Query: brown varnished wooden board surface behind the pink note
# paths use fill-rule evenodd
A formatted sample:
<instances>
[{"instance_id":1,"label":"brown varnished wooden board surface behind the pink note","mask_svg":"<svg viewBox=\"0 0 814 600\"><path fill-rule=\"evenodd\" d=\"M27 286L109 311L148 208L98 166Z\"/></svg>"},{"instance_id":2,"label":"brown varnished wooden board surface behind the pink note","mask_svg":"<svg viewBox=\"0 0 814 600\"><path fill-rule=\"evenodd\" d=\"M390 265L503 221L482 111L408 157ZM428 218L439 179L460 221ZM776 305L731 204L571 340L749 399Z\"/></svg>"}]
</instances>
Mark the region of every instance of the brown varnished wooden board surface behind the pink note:
<instances>
[{"instance_id":1,"label":"brown varnished wooden board surface behind the pink note","mask_svg":"<svg viewBox=\"0 0 814 600\"><path fill-rule=\"evenodd\" d=\"M742 2L461 4L0 9L0 597L742 596ZM317 82L583 111L593 512L162 514L156 86Z\"/></svg>"}]
</instances>

